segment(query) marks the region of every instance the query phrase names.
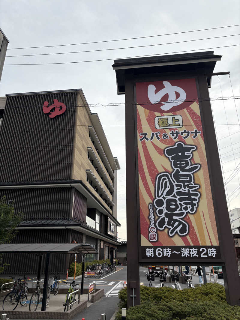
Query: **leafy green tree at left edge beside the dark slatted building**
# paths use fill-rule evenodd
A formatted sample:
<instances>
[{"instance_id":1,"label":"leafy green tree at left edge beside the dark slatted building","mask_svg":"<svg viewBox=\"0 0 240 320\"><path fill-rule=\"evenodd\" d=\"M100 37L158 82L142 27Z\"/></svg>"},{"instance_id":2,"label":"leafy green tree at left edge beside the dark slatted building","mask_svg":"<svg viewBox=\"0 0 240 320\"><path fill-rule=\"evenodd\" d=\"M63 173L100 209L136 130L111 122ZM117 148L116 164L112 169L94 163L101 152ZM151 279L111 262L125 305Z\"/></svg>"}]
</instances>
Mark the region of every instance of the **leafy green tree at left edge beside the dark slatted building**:
<instances>
[{"instance_id":1,"label":"leafy green tree at left edge beside the dark slatted building","mask_svg":"<svg viewBox=\"0 0 240 320\"><path fill-rule=\"evenodd\" d=\"M22 219L22 212L14 212L14 203L6 204L5 196L0 199L0 244L12 241L18 233L16 227ZM7 266L7 264L2 266L2 255L0 255L0 272L3 272Z\"/></svg>"}]
</instances>

